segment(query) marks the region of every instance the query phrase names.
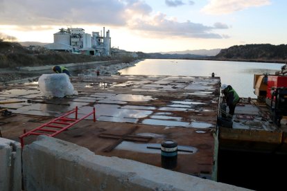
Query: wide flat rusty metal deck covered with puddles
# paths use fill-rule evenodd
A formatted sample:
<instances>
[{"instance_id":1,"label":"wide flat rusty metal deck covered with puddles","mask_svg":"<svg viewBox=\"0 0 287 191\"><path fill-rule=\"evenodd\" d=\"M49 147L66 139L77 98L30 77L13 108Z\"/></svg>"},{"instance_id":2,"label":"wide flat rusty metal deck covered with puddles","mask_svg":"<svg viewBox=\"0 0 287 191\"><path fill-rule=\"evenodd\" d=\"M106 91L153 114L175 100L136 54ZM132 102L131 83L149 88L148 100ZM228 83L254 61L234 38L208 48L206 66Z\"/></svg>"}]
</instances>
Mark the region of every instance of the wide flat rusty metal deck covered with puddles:
<instances>
[{"instance_id":1,"label":"wide flat rusty metal deck covered with puddles","mask_svg":"<svg viewBox=\"0 0 287 191\"><path fill-rule=\"evenodd\" d=\"M73 77L71 83L78 95L65 98L42 97L35 82L0 87L0 107L12 111L0 116L2 136L19 141L24 129L34 129L76 106L79 116L96 107L96 122L88 118L56 138L96 154L159 167L160 150L152 148L172 139L178 149L188 151L178 152L175 171L214 179L220 78L113 75ZM29 136L25 143L35 138Z\"/></svg>"}]
</instances>

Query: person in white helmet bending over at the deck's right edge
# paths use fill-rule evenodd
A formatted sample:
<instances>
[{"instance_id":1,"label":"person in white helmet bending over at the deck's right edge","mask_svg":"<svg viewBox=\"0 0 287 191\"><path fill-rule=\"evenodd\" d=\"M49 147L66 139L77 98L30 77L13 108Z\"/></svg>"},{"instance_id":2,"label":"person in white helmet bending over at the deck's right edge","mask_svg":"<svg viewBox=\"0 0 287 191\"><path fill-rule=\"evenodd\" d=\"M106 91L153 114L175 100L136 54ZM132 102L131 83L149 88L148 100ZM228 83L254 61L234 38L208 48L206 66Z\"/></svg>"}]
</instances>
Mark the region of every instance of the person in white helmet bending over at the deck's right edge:
<instances>
[{"instance_id":1,"label":"person in white helmet bending over at the deck's right edge","mask_svg":"<svg viewBox=\"0 0 287 191\"><path fill-rule=\"evenodd\" d=\"M229 107L229 114L233 116L236 104L239 102L240 98L230 85L227 86L227 84L223 84L221 86L221 91L223 92L226 103Z\"/></svg>"}]
</instances>

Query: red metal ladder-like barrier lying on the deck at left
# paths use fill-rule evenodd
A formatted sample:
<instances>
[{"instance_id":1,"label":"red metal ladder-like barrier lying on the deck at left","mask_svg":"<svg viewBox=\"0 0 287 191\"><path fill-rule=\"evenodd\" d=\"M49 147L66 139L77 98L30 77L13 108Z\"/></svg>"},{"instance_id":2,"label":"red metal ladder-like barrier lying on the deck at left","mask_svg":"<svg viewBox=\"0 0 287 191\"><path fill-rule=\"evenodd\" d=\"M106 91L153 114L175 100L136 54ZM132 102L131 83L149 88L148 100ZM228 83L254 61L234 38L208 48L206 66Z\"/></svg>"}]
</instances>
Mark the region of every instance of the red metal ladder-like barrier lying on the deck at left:
<instances>
[{"instance_id":1,"label":"red metal ladder-like barrier lying on the deck at left","mask_svg":"<svg viewBox=\"0 0 287 191\"><path fill-rule=\"evenodd\" d=\"M66 116L71 115L72 113L75 113L75 118L65 118ZM76 109L73 109L72 111L69 111L68 113L64 113L62 116L55 118L54 120L51 120L50 122L46 122L45 124L41 125L40 127L37 127L31 131L28 131L21 136L20 142L21 147L24 147L24 137L30 136L30 135L46 135L46 136L56 136L60 134L60 132L69 129L69 127L75 125L77 122L80 122L81 120L87 118L88 116L93 114L93 120L96 121L96 109L93 107L93 111L88 113L87 115L83 116L82 118L78 119L78 107ZM54 125L53 125L54 124ZM56 125L55 125L56 124ZM45 129L46 127L46 129ZM49 129L47 129L49 128ZM36 132L37 131L37 132ZM50 133L50 134L49 134Z\"/></svg>"}]
</instances>

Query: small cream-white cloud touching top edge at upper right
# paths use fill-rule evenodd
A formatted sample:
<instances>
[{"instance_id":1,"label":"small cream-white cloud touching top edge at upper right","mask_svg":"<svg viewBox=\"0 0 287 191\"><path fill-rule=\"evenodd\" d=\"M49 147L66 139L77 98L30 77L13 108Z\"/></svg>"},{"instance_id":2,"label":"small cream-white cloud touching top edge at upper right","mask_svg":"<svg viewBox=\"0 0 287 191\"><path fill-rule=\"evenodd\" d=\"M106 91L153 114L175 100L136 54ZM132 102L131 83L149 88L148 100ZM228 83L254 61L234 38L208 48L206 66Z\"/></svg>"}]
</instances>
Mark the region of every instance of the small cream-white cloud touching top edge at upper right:
<instances>
[{"instance_id":1,"label":"small cream-white cloud touching top edge at upper right","mask_svg":"<svg viewBox=\"0 0 287 191\"><path fill-rule=\"evenodd\" d=\"M250 7L267 6L270 0L209 0L202 11L211 15L222 15Z\"/></svg>"}]
</instances>

